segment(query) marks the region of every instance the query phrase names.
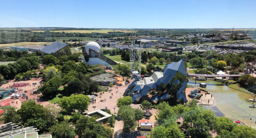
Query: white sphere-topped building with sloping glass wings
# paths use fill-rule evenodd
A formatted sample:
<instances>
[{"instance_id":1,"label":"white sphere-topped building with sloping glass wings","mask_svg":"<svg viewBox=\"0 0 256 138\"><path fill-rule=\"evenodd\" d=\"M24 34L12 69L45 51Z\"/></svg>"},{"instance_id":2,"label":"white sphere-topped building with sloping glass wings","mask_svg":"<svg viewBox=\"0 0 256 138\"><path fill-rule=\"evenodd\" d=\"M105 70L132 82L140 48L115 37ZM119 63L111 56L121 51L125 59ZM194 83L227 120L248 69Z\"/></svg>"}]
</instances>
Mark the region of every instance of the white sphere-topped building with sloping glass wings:
<instances>
[{"instance_id":1,"label":"white sphere-topped building with sloping glass wings","mask_svg":"<svg viewBox=\"0 0 256 138\"><path fill-rule=\"evenodd\" d=\"M91 41L87 43L85 47L82 47L82 50L83 62L88 65L102 64L108 69L111 69L110 65L116 65L116 62L99 53L101 49L97 42Z\"/></svg>"}]
</instances>

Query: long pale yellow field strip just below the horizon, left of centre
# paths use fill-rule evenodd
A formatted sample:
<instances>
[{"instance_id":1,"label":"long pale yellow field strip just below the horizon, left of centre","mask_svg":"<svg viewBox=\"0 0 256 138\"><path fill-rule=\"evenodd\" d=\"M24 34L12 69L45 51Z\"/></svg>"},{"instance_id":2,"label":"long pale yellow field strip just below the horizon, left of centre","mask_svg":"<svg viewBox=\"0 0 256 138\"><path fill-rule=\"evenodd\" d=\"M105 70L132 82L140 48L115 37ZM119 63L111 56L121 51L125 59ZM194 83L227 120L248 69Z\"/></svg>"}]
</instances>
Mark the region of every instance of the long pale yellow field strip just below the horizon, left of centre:
<instances>
[{"instance_id":1,"label":"long pale yellow field strip just below the horizon, left of centre","mask_svg":"<svg viewBox=\"0 0 256 138\"><path fill-rule=\"evenodd\" d=\"M44 32L44 31L33 31L33 32ZM57 31L51 31L51 32L65 32L65 33L108 33L108 32L137 32L137 30L134 29L101 29L101 30L57 30Z\"/></svg>"}]
</instances>

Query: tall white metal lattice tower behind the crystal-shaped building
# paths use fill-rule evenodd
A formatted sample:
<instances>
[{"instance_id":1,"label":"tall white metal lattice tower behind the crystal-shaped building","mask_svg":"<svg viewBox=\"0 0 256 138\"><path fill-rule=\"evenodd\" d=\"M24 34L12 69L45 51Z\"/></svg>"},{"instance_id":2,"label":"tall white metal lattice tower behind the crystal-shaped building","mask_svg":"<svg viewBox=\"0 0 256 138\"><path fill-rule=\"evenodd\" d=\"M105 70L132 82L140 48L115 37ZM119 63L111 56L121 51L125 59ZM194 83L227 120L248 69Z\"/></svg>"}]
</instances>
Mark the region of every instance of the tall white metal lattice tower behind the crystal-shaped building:
<instances>
[{"instance_id":1,"label":"tall white metal lattice tower behind the crystal-shaped building","mask_svg":"<svg viewBox=\"0 0 256 138\"><path fill-rule=\"evenodd\" d=\"M136 49L135 42L132 41L132 45L130 47L130 73L133 75L140 75L141 69L141 42L139 46L139 50Z\"/></svg>"}]
</instances>

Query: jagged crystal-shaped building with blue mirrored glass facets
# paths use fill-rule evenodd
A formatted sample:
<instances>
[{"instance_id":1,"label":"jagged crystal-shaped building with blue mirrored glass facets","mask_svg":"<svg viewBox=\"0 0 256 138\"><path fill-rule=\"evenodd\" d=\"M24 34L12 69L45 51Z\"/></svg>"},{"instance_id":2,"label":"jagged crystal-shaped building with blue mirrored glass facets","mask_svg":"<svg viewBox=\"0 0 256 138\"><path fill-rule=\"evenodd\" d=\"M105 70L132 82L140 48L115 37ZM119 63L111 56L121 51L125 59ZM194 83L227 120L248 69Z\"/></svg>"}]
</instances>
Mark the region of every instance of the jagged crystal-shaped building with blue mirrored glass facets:
<instances>
[{"instance_id":1,"label":"jagged crystal-shaped building with blue mirrored glass facets","mask_svg":"<svg viewBox=\"0 0 256 138\"><path fill-rule=\"evenodd\" d=\"M187 102L186 86L187 74L183 60L180 60L155 70L151 76L136 76L123 96L131 96L133 103L147 100L157 104L168 99L184 103Z\"/></svg>"}]
</instances>

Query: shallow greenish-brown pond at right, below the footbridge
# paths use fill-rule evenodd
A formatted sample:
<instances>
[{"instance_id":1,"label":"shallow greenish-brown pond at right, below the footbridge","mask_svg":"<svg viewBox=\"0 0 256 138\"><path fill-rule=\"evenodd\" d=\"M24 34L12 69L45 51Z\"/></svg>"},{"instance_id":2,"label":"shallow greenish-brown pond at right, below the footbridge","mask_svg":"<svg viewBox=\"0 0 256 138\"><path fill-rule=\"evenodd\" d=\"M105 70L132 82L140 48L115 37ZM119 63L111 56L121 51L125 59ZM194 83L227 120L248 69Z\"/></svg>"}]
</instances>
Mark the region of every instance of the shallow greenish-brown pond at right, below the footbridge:
<instances>
[{"instance_id":1,"label":"shallow greenish-brown pond at right, below the footbridge","mask_svg":"<svg viewBox=\"0 0 256 138\"><path fill-rule=\"evenodd\" d=\"M256 109L249 108L252 102L247 101L248 98L253 98L251 94L231 89L213 80L196 81L195 84L195 80L191 77L188 85L199 86L201 82L207 84L206 89L215 96L215 106L226 117L238 119L256 129Z\"/></svg>"}]
</instances>

